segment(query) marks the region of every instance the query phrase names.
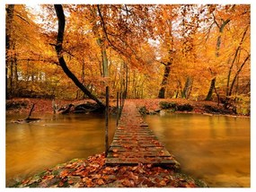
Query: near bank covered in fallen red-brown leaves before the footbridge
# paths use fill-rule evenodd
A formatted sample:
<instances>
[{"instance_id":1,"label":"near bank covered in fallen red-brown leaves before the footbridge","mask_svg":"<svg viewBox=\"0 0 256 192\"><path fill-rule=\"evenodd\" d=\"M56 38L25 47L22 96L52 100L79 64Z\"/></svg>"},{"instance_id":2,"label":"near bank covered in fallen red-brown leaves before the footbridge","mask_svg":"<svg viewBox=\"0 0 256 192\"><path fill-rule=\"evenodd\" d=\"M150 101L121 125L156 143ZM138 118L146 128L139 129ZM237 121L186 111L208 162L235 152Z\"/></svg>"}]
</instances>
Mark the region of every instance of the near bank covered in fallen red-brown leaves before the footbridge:
<instances>
[{"instance_id":1,"label":"near bank covered in fallen red-brown leaves before the footbridge","mask_svg":"<svg viewBox=\"0 0 256 192\"><path fill-rule=\"evenodd\" d=\"M107 166L104 156L58 164L12 188L207 188L202 180L152 164Z\"/></svg>"}]
</instances>

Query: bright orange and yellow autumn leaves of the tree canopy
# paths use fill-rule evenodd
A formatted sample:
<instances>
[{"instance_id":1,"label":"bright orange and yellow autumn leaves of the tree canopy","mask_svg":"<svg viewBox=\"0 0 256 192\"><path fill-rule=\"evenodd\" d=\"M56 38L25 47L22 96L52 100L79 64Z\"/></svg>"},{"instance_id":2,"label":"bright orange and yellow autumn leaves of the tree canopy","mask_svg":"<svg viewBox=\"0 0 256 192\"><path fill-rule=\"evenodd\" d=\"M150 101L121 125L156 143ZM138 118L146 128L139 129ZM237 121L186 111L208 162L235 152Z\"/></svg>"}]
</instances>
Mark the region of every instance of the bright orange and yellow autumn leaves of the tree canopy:
<instances>
[{"instance_id":1,"label":"bright orange and yellow autumn leaves of the tree canopy","mask_svg":"<svg viewBox=\"0 0 256 192\"><path fill-rule=\"evenodd\" d=\"M35 91L51 92L58 97L65 89L64 98L81 99L84 95L71 86L61 70L57 70L54 52L57 18L53 6L36 7L15 5L13 42L7 55L17 59L18 83L22 89L26 83L31 88L42 86ZM230 68L232 79L251 52L251 10L247 4L101 4L99 7L102 17L96 4L64 5L66 33L63 44L68 67L97 95L104 92L102 49L97 39L102 39L102 46L106 49L110 94L114 95L123 88L126 65L128 97L131 98L155 98L164 70L159 62L171 61L166 97L181 97L188 76L193 77L190 99L206 95L214 76L217 76L218 91L225 92ZM230 22L221 33L216 57L219 28L226 20ZM234 59L238 47L239 57ZM239 74L238 88L250 81L248 64ZM44 74L45 83L38 83L41 74ZM243 89L238 91L242 93Z\"/></svg>"}]
</instances>

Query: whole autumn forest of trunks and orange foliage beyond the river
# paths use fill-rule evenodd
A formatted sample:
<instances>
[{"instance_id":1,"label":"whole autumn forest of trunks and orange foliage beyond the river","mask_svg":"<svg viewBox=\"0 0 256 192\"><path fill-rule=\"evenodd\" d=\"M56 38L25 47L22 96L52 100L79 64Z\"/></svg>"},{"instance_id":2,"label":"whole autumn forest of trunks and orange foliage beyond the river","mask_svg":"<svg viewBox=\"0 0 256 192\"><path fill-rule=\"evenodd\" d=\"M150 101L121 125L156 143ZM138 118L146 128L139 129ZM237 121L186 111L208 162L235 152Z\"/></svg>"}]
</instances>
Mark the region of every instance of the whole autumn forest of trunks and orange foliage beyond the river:
<instances>
[{"instance_id":1,"label":"whole autumn forest of trunks and orange foliage beyond the river","mask_svg":"<svg viewBox=\"0 0 256 192\"><path fill-rule=\"evenodd\" d=\"M5 5L6 99L214 100L250 113L249 4ZM249 111L249 112L248 112Z\"/></svg>"}]
</instances>

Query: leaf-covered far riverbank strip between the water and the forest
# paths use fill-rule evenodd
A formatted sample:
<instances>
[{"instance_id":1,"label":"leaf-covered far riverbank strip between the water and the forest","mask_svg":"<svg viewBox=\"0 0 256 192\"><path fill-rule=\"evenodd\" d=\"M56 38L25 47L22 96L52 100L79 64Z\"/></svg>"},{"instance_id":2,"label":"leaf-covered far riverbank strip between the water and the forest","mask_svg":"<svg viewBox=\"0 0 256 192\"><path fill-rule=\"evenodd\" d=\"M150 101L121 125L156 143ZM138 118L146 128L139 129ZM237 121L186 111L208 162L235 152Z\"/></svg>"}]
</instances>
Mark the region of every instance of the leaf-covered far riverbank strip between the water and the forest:
<instances>
[{"instance_id":1,"label":"leaf-covered far riverbank strip between the water and the forest","mask_svg":"<svg viewBox=\"0 0 256 192\"><path fill-rule=\"evenodd\" d=\"M183 99L128 99L133 100L138 108L146 108L146 114L147 115L154 115L159 113L161 109L159 107L160 102L174 102L179 105L182 104L190 104L190 106L193 107L192 111L171 111L173 113L190 113L190 114L201 114L201 115L207 115L207 116L226 116L231 118L251 118L251 115L243 115L243 114L234 114L231 110L225 110L225 113L223 112L209 112L206 109L204 109L204 106L211 106L213 109L219 109L221 110L223 107L221 105L217 105L214 101L205 101L205 100L183 100ZM66 106L70 103L74 105L78 105L81 103L86 102L94 102L93 100L56 100L57 106ZM11 115L15 113L20 114L29 114L32 103L35 103L35 109L33 110L34 114L53 114L52 109L52 100L49 99L28 99L28 98L15 98L13 100L6 100L5 104L5 114ZM110 107L115 109L116 108L116 100L111 99L110 100ZM168 109L167 109L168 110ZM115 110L114 110L115 111ZM158 112L155 112L158 111ZM110 113L114 113L110 111Z\"/></svg>"}]
</instances>

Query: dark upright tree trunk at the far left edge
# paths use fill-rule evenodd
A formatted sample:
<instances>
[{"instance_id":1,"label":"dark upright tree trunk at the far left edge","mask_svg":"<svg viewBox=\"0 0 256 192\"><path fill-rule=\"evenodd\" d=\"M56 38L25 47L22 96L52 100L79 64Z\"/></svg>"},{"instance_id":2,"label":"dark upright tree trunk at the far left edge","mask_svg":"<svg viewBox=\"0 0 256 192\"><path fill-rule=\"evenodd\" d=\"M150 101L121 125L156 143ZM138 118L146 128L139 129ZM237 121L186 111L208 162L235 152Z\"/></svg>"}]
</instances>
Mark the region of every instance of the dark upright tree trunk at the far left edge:
<instances>
[{"instance_id":1,"label":"dark upright tree trunk at the far left edge","mask_svg":"<svg viewBox=\"0 0 256 192\"><path fill-rule=\"evenodd\" d=\"M11 33L12 33L12 23L13 23L13 11L14 4L8 4L6 8L5 16L5 97L6 99L10 98L8 92L8 66L11 63L11 57L9 56L9 50L11 45Z\"/></svg>"}]
</instances>

